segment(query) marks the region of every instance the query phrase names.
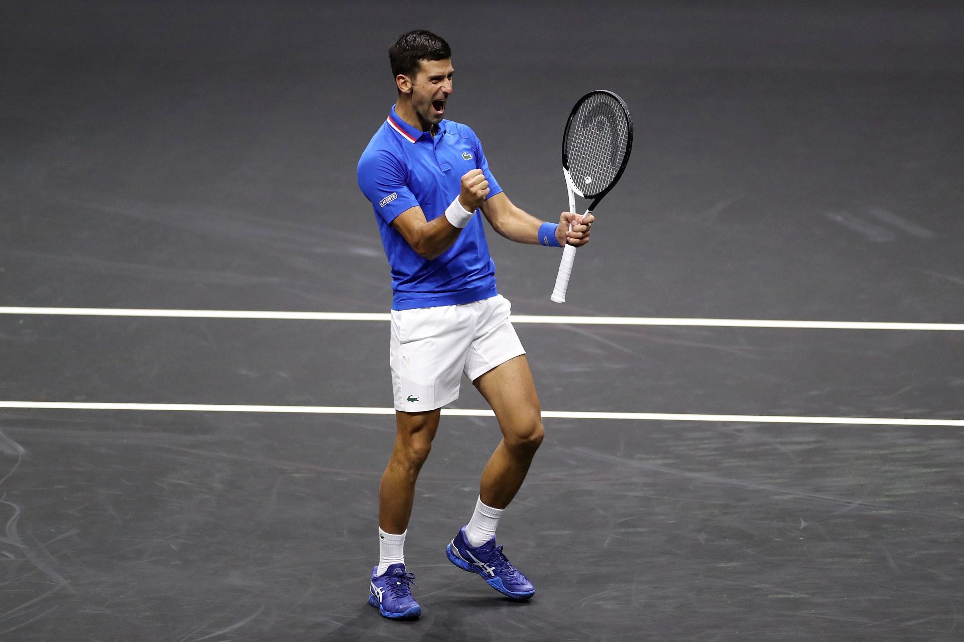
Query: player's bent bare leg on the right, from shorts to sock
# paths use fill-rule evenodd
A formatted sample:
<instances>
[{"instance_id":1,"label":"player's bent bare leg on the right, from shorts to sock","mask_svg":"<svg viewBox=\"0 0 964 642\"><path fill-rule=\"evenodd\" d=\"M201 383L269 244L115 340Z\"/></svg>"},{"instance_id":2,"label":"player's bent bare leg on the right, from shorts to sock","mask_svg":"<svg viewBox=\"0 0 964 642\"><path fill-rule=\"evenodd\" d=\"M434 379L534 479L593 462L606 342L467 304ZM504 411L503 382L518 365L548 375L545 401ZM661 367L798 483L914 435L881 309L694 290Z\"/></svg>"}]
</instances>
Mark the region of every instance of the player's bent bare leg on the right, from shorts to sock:
<instances>
[{"instance_id":1,"label":"player's bent bare leg on the right, from shorts to sock","mask_svg":"<svg viewBox=\"0 0 964 642\"><path fill-rule=\"evenodd\" d=\"M495 411L502 441L482 472L479 499L487 506L505 508L516 497L542 444L539 398L525 355L509 359L472 383Z\"/></svg>"}]
</instances>

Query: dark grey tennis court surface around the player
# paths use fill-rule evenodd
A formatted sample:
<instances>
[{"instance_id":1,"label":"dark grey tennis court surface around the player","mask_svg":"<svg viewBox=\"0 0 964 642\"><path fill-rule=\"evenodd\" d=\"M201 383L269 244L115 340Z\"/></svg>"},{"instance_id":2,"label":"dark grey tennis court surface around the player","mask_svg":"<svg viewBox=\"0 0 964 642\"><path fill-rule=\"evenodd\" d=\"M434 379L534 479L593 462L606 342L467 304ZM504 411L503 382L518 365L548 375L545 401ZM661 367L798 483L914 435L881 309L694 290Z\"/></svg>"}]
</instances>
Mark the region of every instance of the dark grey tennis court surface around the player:
<instances>
[{"instance_id":1,"label":"dark grey tennis court surface around the player","mask_svg":"<svg viewBox=\"0 0 964 642\"><path fill-rule=\"evenodd\" d=\"M542 218L576 98L634 116L565 306L557 252L490 235L516 313L964 321L964 10L939 2L8 0L0 306L386 312L355 164L416 27ZM964 419L960 331L519 332L546 410ZM388 407L388 327L2 314L0 400ZM445 559L498 440L447 418L399 624L365 602L390 416L0 409L0 638L964 638L964 428L546 424L499 528L534 600Z\"/></svg>"}]
</instances>

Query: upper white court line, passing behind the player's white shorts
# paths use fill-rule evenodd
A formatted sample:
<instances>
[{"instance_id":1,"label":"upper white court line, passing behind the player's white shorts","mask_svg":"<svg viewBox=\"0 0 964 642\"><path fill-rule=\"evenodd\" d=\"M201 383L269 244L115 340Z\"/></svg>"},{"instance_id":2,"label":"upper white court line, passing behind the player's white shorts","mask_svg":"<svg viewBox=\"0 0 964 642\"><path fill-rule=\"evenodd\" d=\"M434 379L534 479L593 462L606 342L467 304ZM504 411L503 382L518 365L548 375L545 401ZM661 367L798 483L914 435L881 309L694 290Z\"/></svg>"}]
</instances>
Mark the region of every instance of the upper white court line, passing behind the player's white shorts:
<instances>
[{"instance_id":1,"label":"upper white court line, passing behind the player's white shorts","mask_svg":"<svg viewBox=\"0 0 964 642\"><path fill-rule=\"evenodd\" d=\"M258 312L253 310L152 310L140 308L0 307L5 315L64 315L77 317L159 317L168 319L276 319L302 321L388 321L388 313ZM513 315L514 323L564 325L689 325L711 327L777 327L829 330L964 331L964 323L898 323L873 321L777 321L761 319L676 319L662 317L576 317Z\"/></svg>"}]
</instances>

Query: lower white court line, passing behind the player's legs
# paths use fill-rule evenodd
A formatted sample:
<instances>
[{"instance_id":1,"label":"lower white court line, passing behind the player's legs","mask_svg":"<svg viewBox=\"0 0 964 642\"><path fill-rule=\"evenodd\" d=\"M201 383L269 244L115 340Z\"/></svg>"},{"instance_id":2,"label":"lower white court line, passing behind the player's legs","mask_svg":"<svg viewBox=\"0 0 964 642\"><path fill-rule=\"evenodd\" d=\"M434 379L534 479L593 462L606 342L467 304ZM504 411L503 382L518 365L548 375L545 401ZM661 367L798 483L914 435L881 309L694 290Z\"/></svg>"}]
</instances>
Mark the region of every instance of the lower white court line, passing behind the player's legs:
<instances>
[{"instance_id":1,"label":"lower white court line, passing behind the player's legs","mask_svg":"<svg viewBox=\"0 0 964 642\"><path fill-rule=\"evenodd\" d=\"M90 403L80 401L0 401L0 408L53 410L149 410L194 412L260 412L324 415L393 415L393 408L365 406L222 405L211 403ZM449 417L495 417L492 410L443 408ZM650 412L569 412L543 410L547 419L616 419L643 422L719 422L741 424L938 425L964 427L960 419L885 419L870 417L783 417L779 415L693 415Z\"/></svg>"}]
</instances>

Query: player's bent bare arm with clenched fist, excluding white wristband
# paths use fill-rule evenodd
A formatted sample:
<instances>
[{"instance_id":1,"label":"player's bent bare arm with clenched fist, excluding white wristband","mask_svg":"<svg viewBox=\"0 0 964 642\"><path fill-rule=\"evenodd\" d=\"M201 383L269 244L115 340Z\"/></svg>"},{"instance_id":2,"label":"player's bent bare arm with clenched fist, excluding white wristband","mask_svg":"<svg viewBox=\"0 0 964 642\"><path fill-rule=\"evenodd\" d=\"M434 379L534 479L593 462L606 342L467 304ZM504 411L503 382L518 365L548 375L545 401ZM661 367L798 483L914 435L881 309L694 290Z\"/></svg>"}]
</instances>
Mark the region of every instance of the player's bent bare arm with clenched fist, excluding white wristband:
<instances>
[{"instance_id":1,"label":"player's bent bare arm with clenched fist, excluding white wristband","mask_svg":"<svg viewBox=\"0 0 964 642\"><path fill-rule=\"evenodd\" d=\"M478 209L487 195L489 181L480 169L472 169L462 177L462 190L458 200L467 212ZM426 220L425 213L418 206L410 207L395 217L391 226L398 230L419 256L429 261L439 258L462 232L462 228L453 225L447 216Z\"/></svg>"}]
</instances>

